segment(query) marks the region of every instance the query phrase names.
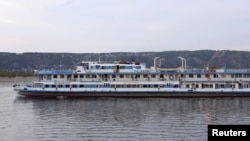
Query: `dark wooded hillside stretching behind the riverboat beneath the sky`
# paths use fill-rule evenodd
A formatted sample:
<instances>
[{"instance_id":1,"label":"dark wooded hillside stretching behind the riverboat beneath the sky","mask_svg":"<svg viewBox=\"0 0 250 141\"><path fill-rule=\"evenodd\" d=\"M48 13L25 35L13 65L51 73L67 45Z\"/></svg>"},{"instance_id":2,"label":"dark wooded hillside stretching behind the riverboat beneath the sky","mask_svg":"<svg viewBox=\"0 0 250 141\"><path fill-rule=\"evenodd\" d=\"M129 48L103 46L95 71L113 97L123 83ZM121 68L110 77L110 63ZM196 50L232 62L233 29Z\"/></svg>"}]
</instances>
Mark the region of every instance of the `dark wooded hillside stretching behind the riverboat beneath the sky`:
<instances>
[{"instance_id":1,"label":"dark wooded hillside stretching behind the riverboat beneath the sky","mask_svg":"<svg viewBox=\"0 0 250 141\"><path fill-rule=\"evenodd\" d=\"M227 68L250 68L250 52L247 51L164 51L164 52L113 52L113 53L7 53L0 52L0 70L33 71L40 69L74 69L82 60L140 61L153 66L154 58L160 57L164 67L181 65L181 56L189 68L222 66Z\"/></svg>"}]
</instances>

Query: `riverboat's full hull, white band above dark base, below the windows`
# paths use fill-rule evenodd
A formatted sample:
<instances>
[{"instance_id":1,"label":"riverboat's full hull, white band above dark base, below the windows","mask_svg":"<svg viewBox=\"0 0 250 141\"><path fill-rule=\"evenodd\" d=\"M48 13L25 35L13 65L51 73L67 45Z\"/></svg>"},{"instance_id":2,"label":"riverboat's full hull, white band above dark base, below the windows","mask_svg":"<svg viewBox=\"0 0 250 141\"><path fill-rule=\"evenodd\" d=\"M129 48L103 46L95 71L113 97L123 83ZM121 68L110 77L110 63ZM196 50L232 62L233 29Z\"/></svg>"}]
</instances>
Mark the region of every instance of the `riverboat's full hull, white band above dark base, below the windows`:
<instances>
[{"instance_id":1,"label":"riverboat's full hull, white band above dark base, below the windows","mask_svg":"<svg viewBox=\"0 0 250 141\"><path fill-rule=\"evenodd\" d=\"M250 96L250 88L35 88L17 86L24 96L44 97L221 97Z\"/></svg>"}]
</instances>

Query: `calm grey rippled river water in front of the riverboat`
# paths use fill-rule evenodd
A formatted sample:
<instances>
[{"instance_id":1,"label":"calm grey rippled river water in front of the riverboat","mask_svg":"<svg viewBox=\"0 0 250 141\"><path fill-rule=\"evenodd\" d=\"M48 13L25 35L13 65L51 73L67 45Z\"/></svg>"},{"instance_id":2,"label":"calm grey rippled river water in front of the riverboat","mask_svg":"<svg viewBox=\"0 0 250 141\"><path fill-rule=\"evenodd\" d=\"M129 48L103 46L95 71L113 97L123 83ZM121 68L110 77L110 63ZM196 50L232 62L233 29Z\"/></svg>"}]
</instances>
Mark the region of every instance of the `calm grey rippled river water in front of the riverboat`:
<instances>
[{"instance_id":1,"label":"calm grey rippled river water in front of the riverboat","mask_svg":"<svg viewBox=\"0 0 250 141\"><path fill-rule=\"evenodd\" d=\"M250 124L250 98L32 99L0 88L1 141L206 141L208 124Z\"/></svg>"}]
</instances>

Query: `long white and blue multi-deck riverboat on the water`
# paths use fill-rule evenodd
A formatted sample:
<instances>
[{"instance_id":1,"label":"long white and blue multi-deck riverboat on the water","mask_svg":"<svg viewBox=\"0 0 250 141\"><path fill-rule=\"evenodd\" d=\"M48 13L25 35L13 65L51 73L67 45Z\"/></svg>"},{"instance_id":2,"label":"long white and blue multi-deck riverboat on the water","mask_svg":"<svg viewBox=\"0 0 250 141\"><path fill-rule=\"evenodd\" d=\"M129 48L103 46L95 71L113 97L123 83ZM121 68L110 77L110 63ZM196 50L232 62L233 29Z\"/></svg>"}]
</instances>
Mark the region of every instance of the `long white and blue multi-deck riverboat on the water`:
<instances>
[{"instance_id":1,"label":"long white and blue multi-deck riverboat on the water","mask_svg":"<svg viewBox=\"0 0 250 141\"><path fill-rule=\"evenodd\" d=\"M33 97L247 97L249 69L187 69L125 61L82 61L75 70L40 70L36 81L14 85L22 96Z\"/></svg>"}]
</instances>

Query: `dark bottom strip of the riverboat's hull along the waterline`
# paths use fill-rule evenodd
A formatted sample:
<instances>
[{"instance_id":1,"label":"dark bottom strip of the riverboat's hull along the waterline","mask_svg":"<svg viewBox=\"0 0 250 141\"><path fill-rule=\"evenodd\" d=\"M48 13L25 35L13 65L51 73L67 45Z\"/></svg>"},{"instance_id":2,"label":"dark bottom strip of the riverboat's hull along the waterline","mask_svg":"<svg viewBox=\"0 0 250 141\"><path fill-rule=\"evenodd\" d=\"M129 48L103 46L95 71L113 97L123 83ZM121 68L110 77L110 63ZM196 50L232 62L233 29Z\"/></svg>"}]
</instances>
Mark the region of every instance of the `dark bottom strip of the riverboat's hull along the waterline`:
<instances>
[{"instance_id":1,"label":"dark bottom strip of the riverboat's hull along the waterline","mask_svg":"<svg viewBox=\"0 0 250 141\"><path fill-rule=\"evenodd\" d=\"M28 97L250 97L249 92L41 92L19 91Z\"/></svg>"}]
</instances>

